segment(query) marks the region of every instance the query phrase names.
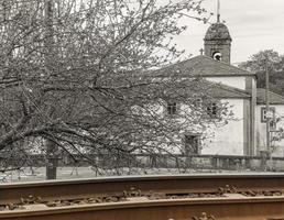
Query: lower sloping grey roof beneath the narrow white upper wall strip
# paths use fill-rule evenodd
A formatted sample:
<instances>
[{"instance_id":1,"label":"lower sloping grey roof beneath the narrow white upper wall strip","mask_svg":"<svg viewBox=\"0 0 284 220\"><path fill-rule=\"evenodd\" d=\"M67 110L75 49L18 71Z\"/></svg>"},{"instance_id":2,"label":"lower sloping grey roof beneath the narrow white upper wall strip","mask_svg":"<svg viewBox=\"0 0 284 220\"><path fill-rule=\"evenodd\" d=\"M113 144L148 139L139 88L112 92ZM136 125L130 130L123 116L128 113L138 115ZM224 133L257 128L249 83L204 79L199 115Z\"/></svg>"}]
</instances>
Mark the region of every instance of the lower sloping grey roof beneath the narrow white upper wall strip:
<instances>
[{"instance_id":1,"label":"lower sloping grey roof beneath the narrow white upper wall strip","mask_svg":"<svg viewBox=\"0 0 284 220\"><path fill-rule=\"evenodd\" d=\"M242 99L247 99L250 98L251 95L242 89L238 89L234 87L230 87L223 84L216 84L216 82L211 82L211 81L205 81L205 84L207 84L208 86L208 92L214 97L214 98L242 98Z\"/></svg>"}]
</instances>

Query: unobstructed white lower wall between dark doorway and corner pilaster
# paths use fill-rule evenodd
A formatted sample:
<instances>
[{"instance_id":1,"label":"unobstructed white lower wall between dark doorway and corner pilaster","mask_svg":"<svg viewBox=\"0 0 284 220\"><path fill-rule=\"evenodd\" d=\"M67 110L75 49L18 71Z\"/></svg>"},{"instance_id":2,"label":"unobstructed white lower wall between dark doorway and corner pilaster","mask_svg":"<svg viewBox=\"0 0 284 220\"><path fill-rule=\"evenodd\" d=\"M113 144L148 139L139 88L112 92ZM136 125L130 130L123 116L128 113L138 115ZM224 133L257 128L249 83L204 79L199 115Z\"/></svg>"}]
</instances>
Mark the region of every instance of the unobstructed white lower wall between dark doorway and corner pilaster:
<instances>
[{"instance_id":1,"label":"unobstructed white lower wall between dark doorway and corner pilaster","mask_svg":"<svg viewBox=\"0 0 284 220\"><path fill-rule=\"evenodd\" d=\"M216 155L243 155L243 99L221 100L232 106L233 121L216 128L211 125L214 136L204 141L201 154Z\"/></svg>"}]
</instances>

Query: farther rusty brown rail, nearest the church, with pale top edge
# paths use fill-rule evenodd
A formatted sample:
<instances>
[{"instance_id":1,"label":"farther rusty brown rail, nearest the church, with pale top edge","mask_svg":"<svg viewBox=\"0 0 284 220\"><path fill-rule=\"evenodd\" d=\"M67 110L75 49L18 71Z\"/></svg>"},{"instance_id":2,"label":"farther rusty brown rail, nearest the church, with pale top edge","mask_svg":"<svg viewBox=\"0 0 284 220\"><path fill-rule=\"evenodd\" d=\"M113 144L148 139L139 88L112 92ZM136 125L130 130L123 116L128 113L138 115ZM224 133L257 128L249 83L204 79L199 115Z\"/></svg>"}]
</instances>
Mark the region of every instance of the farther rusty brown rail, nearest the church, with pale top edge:
<instances>
[{"instance_id":1,"label":"farther rusty brown rail, nearest the church, with pale top edge","mask_svg":"<svg viewBox=\"0 0 284 220\"><path fill-rule=\"evenodd\" d=\"M81 197L122 193L130 188L141 191L216 191L219 187L238 189L284 190L284 174L210 174L210 175L154 175L105 177L78 180L50 180L24 184L1 184L0 205L29 197Z\"/></svg>"}]
</instances>

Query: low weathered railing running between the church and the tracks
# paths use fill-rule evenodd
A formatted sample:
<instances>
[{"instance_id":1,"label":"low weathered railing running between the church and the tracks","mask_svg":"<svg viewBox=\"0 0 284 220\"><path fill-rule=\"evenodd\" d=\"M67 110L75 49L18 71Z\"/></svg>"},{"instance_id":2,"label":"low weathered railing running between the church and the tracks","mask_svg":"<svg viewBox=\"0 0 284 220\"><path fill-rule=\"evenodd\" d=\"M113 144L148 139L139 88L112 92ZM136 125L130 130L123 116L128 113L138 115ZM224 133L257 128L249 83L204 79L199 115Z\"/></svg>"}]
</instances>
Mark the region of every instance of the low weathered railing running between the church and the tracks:
<instances>
[{"instance_id":1,"label":"low weathered railing running between the church and the tracks","mask_svg":"<svg viewBox=\"0 0 284 220\"><path fill-rule=\"evenodd\" d=\"M58 166L96 166L102 168L177 168L177 169L227 169L227 170L284 170L284 157L233 156L233 155L188 155L183 154L88 154L59 155ZM0 166L45 166L45 155L29 155L26 158L0 156Z\"/></svg>"}]
</instances>

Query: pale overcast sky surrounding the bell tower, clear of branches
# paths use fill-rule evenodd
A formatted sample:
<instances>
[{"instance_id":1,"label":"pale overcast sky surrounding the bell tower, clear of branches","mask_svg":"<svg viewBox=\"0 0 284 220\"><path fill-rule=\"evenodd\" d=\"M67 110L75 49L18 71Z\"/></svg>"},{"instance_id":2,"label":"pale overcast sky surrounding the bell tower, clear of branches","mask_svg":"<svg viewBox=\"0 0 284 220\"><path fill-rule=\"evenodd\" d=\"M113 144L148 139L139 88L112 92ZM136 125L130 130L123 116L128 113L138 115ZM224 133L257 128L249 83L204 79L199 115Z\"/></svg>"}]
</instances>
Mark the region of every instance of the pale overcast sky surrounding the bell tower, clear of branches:
<instances>
[{"instance_id":1,"label":"pale overcast sky surrounding the bell tower, clear of branches","mask_svg":"<svg viewBox=\"0 0 284 220\"><path fill-rule=\"evenodd\" d=\"M216 4L217 0L205 0L203 6L216 12ZM221 0L221 20L226 21L232 36L232 63L247 61L266 48L284 54L284 0ZM192 19L183 23L188 29L175 38L178 48L199 55L209 24Z\"/></svg>"}]
</instances>

